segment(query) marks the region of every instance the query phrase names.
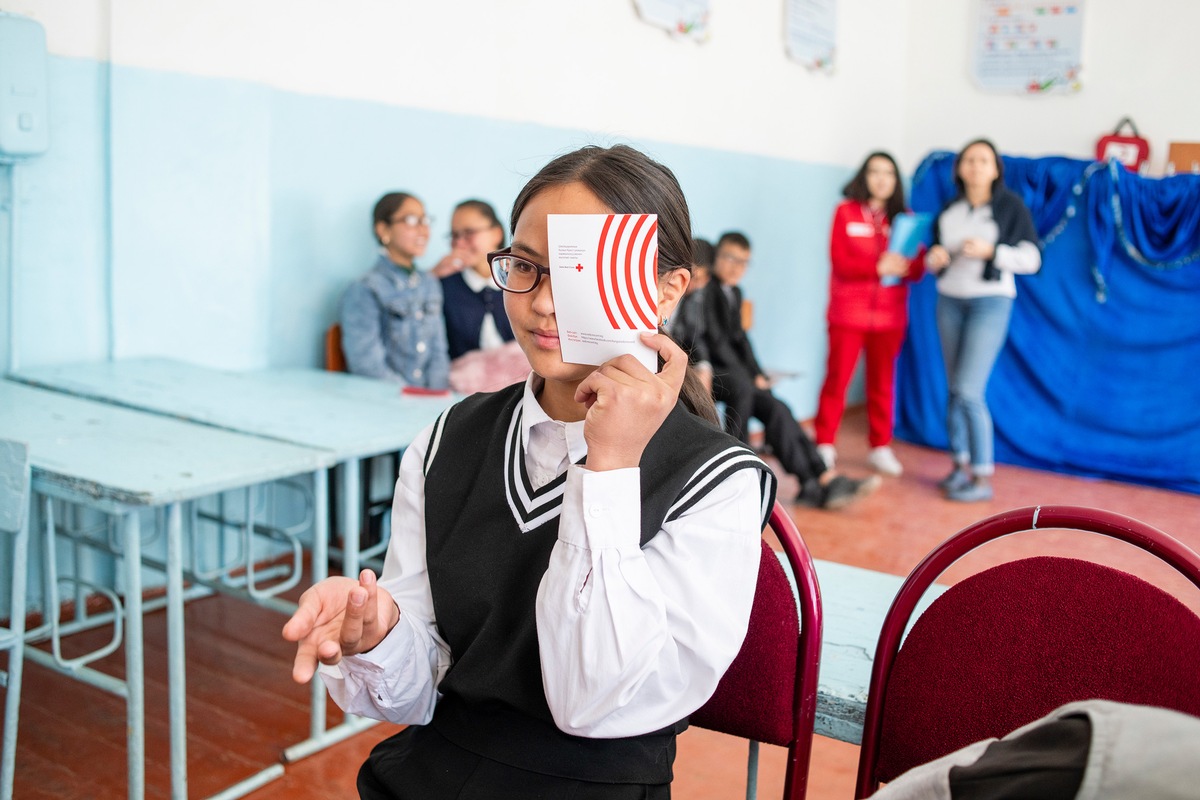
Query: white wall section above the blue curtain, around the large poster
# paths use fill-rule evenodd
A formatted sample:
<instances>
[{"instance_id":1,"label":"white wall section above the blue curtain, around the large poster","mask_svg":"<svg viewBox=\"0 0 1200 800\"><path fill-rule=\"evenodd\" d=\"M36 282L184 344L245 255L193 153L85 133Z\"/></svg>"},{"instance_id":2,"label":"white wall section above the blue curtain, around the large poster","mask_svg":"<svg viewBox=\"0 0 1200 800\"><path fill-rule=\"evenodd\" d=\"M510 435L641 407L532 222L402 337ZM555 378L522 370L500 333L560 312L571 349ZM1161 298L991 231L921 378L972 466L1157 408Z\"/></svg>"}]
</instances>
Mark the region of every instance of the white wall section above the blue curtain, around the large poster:
<instances>
[{"instance_id":1,"label":"white wall section above the blue curtain, around the large poster","mask_svg":"<svg viewBox=\"0 0 1200 800\"><path fill-rule=\"evenodd\" d=\"M1084 0L1082 91L1004 95L971 77L973 4L912 0L908 17L906 164L985 136L1003 152L1092 158L1122 116L1150 139L1150 174L1169 142L1200 142L1200 2Z\"/></svg>"}]
</instances>

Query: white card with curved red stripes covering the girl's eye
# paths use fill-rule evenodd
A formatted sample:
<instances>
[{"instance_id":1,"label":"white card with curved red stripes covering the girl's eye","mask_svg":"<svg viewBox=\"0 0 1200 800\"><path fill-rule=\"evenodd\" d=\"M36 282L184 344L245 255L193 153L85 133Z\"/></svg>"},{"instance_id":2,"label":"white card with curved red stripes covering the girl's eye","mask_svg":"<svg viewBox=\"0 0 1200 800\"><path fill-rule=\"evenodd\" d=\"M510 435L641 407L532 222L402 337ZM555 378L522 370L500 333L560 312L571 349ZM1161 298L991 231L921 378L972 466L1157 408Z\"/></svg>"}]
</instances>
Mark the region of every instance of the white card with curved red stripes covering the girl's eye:
<instances>
[{"instance_id":1,"label":"white card with curved red stripes covering the girl's eye","mask_svg":"<svg viewBox=\"0 0 1200 800\"><path fill-rule=\"evenodd\" d=\"M658 372L658 353L640 339L658 330L658 215L551 213L546 223L563 361L631 353Z\"/></svg>"}]
</instances>

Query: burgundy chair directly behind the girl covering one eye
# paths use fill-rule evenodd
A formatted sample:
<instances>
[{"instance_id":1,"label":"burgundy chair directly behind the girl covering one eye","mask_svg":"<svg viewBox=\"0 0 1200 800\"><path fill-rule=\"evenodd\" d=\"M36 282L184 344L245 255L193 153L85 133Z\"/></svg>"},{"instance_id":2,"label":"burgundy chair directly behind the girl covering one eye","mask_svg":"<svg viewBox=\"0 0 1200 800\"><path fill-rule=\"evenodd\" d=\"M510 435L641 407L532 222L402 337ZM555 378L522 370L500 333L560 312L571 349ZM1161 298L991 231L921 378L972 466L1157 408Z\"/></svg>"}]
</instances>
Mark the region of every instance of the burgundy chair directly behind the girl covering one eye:
<instances>
[{"instance_id":1,"label":"burgundy chair directly behind the girl covering one eye","mask_svg":"<svg viewBox=\"0 0 1200 800\"><path fill-rule=\"evenodd\" d=\"M750 800L757 789L758 742L787 747L784 800L803 800L817 712L821 589L809 548L778 503L768 525L796 576L799 603L779 557L764 541L745 642L716 692L690 722L750 740Z\"/></svg>"}]
</instances>

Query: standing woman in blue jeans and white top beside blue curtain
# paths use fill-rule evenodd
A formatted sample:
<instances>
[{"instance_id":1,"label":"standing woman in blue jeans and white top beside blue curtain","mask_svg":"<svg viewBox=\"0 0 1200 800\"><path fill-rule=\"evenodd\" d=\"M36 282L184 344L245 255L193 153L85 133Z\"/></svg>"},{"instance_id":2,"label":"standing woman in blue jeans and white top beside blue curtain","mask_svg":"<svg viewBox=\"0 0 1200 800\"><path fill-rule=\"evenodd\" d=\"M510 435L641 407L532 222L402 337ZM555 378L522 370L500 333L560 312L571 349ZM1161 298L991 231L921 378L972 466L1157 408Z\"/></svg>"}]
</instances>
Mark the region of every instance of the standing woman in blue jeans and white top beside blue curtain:
<instances>
[{"instance_id":1,"label":"standing woman in blue jeans and white top beside blue curtain","mask_svg":"<svg viewBox=\"0 0 1200 800\"><path fill-rule=\"evenodd\" d=\"M950 500L992 498L991 413L984 392L1016 296L1014 275L1042 267L1033 217L1004 186L996 145L971 142L954 162L952 199L934 224L925 266L937 275L937 332L949 384L946 428L954 467L938 486Z\"/></svg>"}]
</instances>

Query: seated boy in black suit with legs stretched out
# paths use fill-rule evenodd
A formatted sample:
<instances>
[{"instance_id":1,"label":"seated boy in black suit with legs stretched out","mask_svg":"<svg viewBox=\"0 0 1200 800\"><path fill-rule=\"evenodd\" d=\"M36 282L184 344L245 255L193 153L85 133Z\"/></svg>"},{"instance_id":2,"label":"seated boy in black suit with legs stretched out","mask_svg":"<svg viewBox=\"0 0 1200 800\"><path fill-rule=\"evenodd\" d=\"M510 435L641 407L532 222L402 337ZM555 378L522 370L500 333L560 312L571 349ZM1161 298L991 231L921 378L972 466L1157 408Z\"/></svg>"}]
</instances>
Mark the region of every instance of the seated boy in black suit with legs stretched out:
<instances>
[{"instance_id":1,"label":"seated boy in black suit with legs stretched out","mask_svg":"<svg viewBox=\"0 0 1200 800\"><path fill-rule=\"evenodd\" d=\"M742 289L750 264L750 240L730 231L716 242L713 281L704 289L704 341L713 362L713 396L725 403L725 428L750 441L750 417L763 425L763 438L784 470L800 482L797 503L841 509L880 486L876 475L854 480L826 465L792 410L770 391L742 327Z\"/></svg>"}]
</instances>

